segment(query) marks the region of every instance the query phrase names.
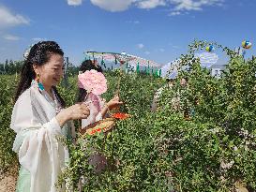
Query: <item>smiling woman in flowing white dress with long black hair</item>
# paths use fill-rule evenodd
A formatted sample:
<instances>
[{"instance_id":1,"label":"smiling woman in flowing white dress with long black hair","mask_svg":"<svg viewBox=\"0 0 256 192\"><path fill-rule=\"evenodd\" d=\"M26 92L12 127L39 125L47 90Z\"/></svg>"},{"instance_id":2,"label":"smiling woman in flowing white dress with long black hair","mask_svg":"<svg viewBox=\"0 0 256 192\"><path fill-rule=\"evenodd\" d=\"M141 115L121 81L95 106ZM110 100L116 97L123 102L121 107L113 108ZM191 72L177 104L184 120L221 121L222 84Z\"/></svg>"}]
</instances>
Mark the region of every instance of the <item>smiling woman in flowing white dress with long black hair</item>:
<instances>
[{"instance_id":1,"label":"smiling woman in flowing white dress with long black hair","mask_svg":"<svg viewBox=\"0 0 256 192\"><path fill-rule=\"evenodd\" d=\"M18 192L57 190L54 184L68 161L68 149L58 139L70 138L69 120L89 115L84 104L64 109L56 89L63 76L63 55L57 43L41 41L24 60L10 125L17 133L13 151L21 164Z\"/></svg>"}]
</instances>

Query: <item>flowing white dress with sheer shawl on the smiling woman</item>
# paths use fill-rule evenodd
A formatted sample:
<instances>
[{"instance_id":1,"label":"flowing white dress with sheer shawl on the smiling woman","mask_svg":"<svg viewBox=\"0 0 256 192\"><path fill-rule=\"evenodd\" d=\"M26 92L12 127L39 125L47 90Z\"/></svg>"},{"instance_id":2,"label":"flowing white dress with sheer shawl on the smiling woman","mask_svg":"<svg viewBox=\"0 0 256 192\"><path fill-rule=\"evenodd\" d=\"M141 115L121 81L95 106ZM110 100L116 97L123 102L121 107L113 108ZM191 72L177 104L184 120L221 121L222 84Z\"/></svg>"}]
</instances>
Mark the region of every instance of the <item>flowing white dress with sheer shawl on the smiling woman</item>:
<instances>
[{"instance_id":1,"label":"flowing white dress with sheer shawl on the smiling woman","mask_svg":"<svg viewBox=\"0 0 256 192\"><path fill-rule=\"evenodd\" d=\"M59 126L55 119L58 111L56 96L53 100L46 91L40 91L37 81L16 101L10 128L17 133L13 151L21 164L17 191L57 191L54 184L68 162L68 148L57 138L66 139L70 126Z\"/></svg>"}]
</instances>

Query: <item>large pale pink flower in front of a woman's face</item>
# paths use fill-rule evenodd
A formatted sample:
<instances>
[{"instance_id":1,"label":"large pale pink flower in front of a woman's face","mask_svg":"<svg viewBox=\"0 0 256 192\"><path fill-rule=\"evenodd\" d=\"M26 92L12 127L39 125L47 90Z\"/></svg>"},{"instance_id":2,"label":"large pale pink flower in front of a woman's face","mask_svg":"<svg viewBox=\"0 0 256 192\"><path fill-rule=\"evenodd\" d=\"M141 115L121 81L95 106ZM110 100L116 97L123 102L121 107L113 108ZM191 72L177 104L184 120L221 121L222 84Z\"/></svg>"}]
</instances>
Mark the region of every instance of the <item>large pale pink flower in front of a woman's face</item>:
<instances>
[{"instance_id":1,"label":"large pale pink flower in front of a woman's face","mask_svg":"<svg viewBox=\"0 0 256 192\"><path fill-rule=\"evenodd\" d=\"M84 73L78 75L78 86L87 92L92 92L100 96L107 91L107 80L97 70L86 70Z\"/></svg>"}]
</instances>

